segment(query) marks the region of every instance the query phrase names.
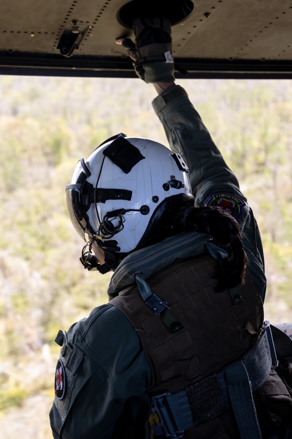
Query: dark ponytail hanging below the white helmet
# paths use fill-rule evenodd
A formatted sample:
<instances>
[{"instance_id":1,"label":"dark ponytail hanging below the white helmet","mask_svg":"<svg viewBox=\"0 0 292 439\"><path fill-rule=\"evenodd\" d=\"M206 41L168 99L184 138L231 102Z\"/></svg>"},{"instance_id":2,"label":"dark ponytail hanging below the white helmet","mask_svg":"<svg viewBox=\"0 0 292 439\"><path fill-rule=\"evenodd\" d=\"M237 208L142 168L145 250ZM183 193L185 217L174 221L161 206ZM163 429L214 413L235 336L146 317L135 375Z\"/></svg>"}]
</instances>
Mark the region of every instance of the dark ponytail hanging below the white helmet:
<instances>
[{"instance_id":1,"label":"dark ponytail hanging below the white helmet","mask_svg":"<svg viewBox=\"0 0 292 439\"><path fill-rule=\"evenodd\" d=\"M214 243L228 253L216 273L215 291L224 291L244 283L248 258L243 248L239 225L231 215L218 207L186 207L176 216L172 225L174 233L197 231L207 233Z\"/></svg>"}]
</instances>

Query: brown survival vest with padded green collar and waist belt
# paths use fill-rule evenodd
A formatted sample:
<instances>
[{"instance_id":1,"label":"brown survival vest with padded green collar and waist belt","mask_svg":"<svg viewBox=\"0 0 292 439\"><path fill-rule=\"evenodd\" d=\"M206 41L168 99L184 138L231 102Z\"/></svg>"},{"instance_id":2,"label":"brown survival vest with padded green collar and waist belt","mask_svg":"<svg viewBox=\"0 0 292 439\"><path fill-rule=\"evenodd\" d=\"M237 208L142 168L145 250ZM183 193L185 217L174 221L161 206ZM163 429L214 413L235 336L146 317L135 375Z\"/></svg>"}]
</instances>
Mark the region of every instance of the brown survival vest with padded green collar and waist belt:
<instances>
[{"instance_id":1,"label":"brown survival vest with padded green collar and waist belt","mask_svg":"<svg viewBox=\"0 0 292 439\"><path fill-rule=\"evenodd\" d=\"M188 259L178 245L182 238ZM277 366L271 329L249 271L240 288L215 293L222 249L207 245L206 252L205 243L204 234L183 234L163 241L155 252L145 249L140 263L139 254L130 255L109 288L113 295L120 289L110 303L133 324L152 371L146 437L200 437L197 426L220 417L234 425L234 415L241 438L260 439L252 390ZM119 288L122 284L129 286Z\"/></svg>"}]
</instances>

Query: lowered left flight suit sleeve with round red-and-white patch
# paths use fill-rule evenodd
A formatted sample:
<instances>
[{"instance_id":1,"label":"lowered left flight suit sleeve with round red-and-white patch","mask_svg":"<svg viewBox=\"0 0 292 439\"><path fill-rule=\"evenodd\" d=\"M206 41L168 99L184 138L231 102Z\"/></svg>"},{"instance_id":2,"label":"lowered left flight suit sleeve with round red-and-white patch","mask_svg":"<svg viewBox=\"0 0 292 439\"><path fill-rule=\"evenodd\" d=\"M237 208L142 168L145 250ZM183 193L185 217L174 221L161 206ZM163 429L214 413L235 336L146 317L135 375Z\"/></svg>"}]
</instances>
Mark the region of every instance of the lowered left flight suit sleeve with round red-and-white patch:
<instances>
[{"instance_id":1,"label":"lowered left flight suit sleeve with round red-and-white patch","mask_svg":"<svg viewBox=\"0 0 292 439\"><path fill-rule=\"evenodd\" d=\"M151 369L139 336L110 304L64 334L50 412L54 439L110 439L125 402L144 394Z\"/></svg>"}]
</instances>

